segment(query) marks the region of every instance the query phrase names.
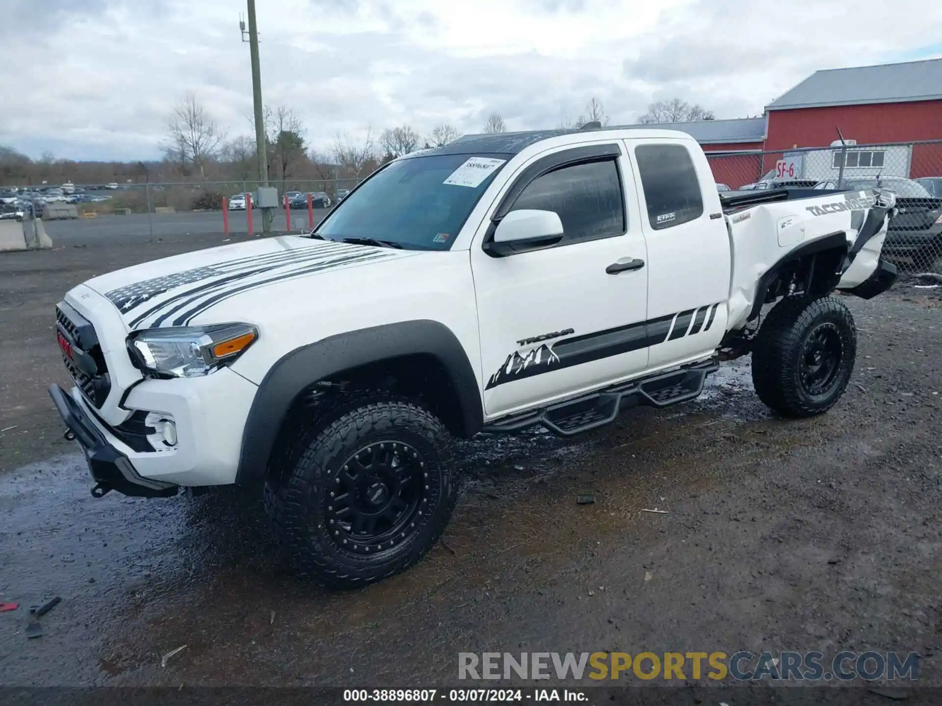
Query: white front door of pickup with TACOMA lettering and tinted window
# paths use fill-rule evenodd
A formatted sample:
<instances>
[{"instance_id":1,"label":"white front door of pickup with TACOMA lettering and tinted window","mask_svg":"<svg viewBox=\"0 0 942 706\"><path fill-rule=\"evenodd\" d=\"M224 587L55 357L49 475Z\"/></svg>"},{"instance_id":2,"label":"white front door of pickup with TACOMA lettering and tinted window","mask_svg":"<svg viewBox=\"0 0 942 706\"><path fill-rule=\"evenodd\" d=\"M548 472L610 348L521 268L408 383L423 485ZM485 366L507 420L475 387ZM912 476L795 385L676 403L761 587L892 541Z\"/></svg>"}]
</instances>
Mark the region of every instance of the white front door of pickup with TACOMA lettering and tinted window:
<instances>
[{"instance_id":1,"label":"white front door of pickup with TACOMA lettering and tinted window","mask_svg":"<svg viewBox=\"0 0 942 706\"><path fill-rule=\"evenodd\" d=\"M646 367L647 252L633 184L625 146L613 140L533 157L495 202L471 248L488 416ZM520 209L557 213L561 240L486 251L496 222Z\"/></svg>"}]
</instances>

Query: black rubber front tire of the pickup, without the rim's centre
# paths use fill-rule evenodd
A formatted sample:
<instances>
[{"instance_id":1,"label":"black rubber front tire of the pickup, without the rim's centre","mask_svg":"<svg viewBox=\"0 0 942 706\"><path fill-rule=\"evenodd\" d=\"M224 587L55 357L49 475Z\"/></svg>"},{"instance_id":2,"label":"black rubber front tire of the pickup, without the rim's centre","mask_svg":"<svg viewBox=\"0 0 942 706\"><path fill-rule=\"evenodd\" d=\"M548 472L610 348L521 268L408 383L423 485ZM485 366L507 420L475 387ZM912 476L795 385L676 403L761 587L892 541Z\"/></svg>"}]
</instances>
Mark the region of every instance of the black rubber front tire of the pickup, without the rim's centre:
<instances>
[{"instance_id":1,"label":"black rubber front tire of the pickup, without the rim's centre","mask_svg":"<svg viewBox=\"0 0 942 706\"><path fill-rule=\"evenodd\" d=\"M282 442L268 469L265 508L301 576L331 588L366 586L413 566L441 538L458 487L451 436L428 409L391 393L342 394ZM379 443L407 445L424 459L424 495L404 538L397 534L382 548L358 546L354 553L340 544L340 537L352 542L352 536L330 523L328 498L350 456Z\"/></svg>"}]
</instances>

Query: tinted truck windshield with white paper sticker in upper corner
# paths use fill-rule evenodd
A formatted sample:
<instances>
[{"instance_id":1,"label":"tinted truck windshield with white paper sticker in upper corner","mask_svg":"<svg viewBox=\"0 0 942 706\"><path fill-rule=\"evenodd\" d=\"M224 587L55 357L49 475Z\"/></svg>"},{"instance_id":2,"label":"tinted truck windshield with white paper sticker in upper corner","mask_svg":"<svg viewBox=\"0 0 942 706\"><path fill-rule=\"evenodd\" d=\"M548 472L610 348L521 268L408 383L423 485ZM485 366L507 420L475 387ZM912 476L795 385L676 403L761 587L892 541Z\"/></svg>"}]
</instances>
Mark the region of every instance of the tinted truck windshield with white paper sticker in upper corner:
<instances>
[{"instance_id":1,"label":"tinted truck windshield with white paper sticker in upper corner","mask_svg":"<svg viewBox=\"0 0 942 706\"><path fill-rule=\"evenodd\" d=\"M398 160L345 197L314 234L447 250L506 158L430 154Z\"/></svg>"}]
</instances>

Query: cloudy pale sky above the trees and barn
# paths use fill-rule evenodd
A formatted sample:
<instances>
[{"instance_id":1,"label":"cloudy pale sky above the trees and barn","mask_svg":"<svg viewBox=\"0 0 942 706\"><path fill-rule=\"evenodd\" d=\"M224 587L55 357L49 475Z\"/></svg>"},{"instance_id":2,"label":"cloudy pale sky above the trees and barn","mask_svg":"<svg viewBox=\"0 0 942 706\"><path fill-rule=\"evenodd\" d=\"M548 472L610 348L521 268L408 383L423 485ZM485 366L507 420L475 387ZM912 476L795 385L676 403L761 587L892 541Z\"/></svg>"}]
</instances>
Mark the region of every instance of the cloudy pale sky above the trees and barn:
<instances>
[{"instance_id":1,"label":"cloudy pale sky above the trees and barn","mask_svg":"<svg viewBox=\"0 0 942 706\"><path fill-rule=\"evenodd\" d=\"M242 0L0 0L0 145L38 157L148 159L196 92L252 134ZM718 118L817 69L942 56L929 0L258 0L265 102L309 143L447 121L555 127L599 98L612 123L683 98Z\"/></svg>"}]
</instances>

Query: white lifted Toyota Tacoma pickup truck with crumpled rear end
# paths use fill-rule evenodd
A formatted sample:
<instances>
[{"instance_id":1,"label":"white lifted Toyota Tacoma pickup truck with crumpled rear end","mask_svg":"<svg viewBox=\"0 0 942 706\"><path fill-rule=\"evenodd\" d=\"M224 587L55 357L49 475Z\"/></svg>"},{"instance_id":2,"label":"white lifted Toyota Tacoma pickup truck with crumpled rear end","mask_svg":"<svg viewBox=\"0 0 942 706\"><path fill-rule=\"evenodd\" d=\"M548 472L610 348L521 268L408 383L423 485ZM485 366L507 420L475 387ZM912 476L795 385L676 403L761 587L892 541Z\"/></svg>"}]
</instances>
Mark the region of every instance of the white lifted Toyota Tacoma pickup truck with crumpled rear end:
<instances>
[{"instance_id":1,"label":"white lifted Toyota Tacoma pickup truck with crumpled rear end","mask_svg":"<svg viewBox=\"0 0 942 706\"><path fill-rule=\"evenodd\" d=\"M463 138L383 166L309 236L75 287L57 308L75 387L50 393L94 495L262 482L298 569L361 586L441 535L453 436L569 436L690 400L748 353L771 408L829 409L856 334L828 295L892 283L893 204L723 199L669 130Z\"/></svg>"}]
</instances>

